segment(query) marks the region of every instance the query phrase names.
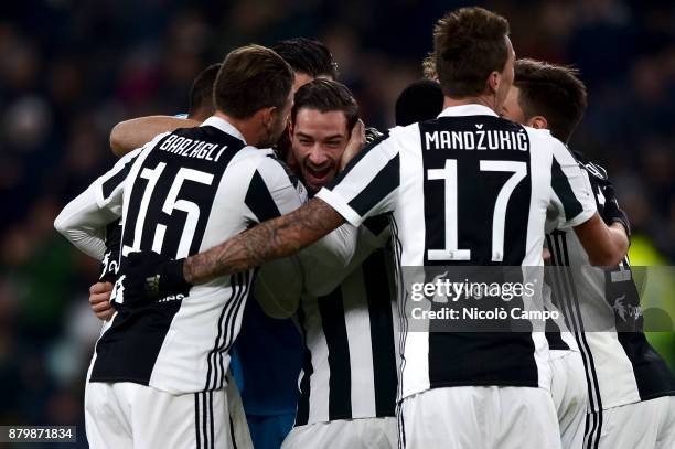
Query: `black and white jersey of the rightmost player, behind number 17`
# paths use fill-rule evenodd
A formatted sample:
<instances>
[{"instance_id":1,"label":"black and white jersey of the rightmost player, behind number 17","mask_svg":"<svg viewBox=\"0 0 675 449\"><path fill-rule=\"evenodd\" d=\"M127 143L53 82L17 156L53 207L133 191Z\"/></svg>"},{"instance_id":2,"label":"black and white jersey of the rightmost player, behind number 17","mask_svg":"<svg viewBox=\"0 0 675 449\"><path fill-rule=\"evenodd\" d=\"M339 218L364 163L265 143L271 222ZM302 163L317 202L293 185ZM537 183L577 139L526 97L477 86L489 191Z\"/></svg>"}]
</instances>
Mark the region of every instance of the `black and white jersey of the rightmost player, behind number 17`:
<instances>
[{"instance_id":1,"label":"black and white jersey of the rightmost player, behind number 17","mask_svg":"<svg viewBox=\"0 0 675 449\"><path fill-rule=\"evenodd\" d=\"M602 193L610 185L607 172L581 154L578 159L602 214L609 201ZM675 395L675 377L644 335L640 295L628 257L614 269L590 267L576 234L551 227L547 225L546 235L551 264L565 267L556 269L550 281L554 301L561 304L581 352L589 411Z\"/></svg>"}]
</instances>

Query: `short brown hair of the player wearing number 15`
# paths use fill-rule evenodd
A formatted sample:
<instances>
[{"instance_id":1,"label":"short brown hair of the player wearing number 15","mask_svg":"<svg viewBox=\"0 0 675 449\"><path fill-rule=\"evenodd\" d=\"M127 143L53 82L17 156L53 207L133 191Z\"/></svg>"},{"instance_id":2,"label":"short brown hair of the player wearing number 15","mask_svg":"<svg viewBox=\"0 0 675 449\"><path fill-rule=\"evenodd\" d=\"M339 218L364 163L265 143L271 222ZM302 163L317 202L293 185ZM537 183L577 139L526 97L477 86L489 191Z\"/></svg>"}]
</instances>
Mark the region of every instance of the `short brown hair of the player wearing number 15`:
<instances>
[{"instance_id":1,"label":"short brown hair of the player wearing number 15","mask_svg":"<svg viewBox=\"0 0 675 449\"><path fill-rule=\"evenodd\" d=\"M225 56L218 71L213 103L234 118L246 119L267 107L283 107L293 85L293 72L272 50L247 45Z\"/></svg>"}]
</instances>

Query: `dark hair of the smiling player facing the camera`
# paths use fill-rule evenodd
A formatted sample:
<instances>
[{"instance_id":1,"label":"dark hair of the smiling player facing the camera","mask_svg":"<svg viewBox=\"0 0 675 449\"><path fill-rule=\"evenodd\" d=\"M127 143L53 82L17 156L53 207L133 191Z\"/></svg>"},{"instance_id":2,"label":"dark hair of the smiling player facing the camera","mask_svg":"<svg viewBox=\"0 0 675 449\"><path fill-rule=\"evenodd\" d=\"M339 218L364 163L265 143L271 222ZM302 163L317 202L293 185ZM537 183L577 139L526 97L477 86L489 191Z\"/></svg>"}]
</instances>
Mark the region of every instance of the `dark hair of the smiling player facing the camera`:
<instances>
[{"instance_id":1,"label":"dark hair of the smiling player facing the camera","mask_svg":"<svg viewBox=\"0 0 675 449\"><path fill-rule=\"evenodd\" d=\"M332 79L318 78L307 83L296 92L291 118L296 121L298 111L302 108L315 109L320 113L341 110L346 118L347 132L358 120L358 104L350 89L342 83Z\"/></svg>"}]
</instances>

